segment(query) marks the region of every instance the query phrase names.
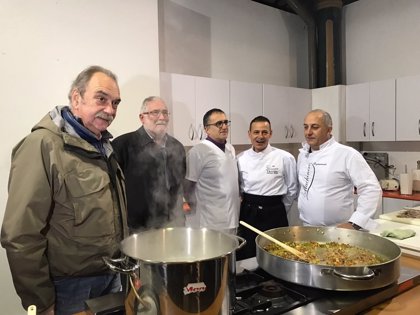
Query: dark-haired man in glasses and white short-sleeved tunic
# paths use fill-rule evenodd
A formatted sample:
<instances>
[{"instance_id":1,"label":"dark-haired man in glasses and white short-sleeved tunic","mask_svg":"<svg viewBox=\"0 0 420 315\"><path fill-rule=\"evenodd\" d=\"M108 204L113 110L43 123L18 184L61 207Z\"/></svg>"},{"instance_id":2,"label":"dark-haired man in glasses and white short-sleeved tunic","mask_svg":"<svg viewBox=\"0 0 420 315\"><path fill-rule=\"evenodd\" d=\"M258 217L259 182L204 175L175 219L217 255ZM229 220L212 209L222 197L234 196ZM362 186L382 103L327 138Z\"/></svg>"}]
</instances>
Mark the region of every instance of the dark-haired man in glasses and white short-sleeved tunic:
<instances>
[{"instance_id":1,"label":"dark-haired man in glasses and white short-sleeved tunic","mask_svg":"<svg viewBox=\"0 0 420 315\"><path fill-rule=\"evenodd\" d=\"M188 202L186 224L236 233L239 220L238 168L234 147L226 142L230 121L217 108L203 117L207 138L187 157Z\"/></svg>"}]
</instances>

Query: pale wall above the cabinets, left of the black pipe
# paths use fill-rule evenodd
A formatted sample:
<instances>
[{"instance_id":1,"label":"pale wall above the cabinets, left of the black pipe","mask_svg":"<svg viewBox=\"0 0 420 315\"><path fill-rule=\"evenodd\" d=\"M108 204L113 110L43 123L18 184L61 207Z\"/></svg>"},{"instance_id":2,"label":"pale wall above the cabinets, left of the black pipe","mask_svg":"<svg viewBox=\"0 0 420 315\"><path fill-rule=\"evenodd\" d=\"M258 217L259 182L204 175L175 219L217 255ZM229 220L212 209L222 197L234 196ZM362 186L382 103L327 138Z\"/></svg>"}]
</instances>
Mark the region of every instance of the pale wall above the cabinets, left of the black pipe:
<instances>
[{"instance_id":1,"label":"pale wall above the cabinets, left of the black pipe","mask_svg":"<svg viewBox=\"0 0 420 315\"><path fill-rule=\"evenodd\" d=\"M307 31L250 0L159 0L161 71L308 87Z\"/></svg>"}]
</instances>

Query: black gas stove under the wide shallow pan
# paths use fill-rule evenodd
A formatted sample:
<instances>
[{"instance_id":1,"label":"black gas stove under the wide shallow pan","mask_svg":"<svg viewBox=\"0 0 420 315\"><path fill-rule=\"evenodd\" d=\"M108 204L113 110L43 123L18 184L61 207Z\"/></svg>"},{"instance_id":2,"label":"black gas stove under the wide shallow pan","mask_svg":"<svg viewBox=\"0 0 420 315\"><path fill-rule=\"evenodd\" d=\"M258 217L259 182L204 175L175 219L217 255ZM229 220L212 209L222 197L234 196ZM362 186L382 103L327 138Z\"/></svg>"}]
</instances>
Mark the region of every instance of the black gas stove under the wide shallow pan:
<instances>
[{"instance_id":1,"label":"black gas stove under the wide shallow pan","mask_svg":"<svg viewBox=\"0 0 420 315\"><path fill-rule=\"evenodd\" d=\"M401 266L398 281L366 291L332 291L276 279L261 268L236 275L232 314L357 314L420 284L420 273Z\"/></svg>"}]
</instances>

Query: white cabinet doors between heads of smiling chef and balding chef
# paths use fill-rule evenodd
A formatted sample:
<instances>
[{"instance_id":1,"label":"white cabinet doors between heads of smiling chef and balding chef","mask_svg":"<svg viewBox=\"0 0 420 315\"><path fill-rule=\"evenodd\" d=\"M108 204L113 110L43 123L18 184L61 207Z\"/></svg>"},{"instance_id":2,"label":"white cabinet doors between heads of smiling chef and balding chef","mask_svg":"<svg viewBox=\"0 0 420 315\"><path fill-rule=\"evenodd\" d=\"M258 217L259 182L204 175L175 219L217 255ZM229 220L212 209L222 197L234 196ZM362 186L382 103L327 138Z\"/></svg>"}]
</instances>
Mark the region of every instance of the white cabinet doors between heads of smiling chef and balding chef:
<instances>
[{"instance_id":1,"label":"white cabinet doors between heads of smiling chef and balding chef","mask_svg":"<svg viewBox=\"0 0 420 315\"><path fill-rule=\"evenodd\" d=\"M311 110L311 90L263 85L263 114L271 121L272 143L304 141L303 120Z\"/></svg>"}]
</instances>

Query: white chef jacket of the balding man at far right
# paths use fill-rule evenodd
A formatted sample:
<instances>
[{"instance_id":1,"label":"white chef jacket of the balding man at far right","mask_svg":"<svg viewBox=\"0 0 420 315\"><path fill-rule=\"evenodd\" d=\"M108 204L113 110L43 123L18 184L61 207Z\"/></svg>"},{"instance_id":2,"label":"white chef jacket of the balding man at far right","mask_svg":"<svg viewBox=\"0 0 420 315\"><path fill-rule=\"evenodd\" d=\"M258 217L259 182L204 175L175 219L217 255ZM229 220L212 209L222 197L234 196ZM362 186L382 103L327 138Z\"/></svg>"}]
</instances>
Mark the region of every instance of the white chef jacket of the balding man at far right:
<instances>
[{"instance_id":1,"label":"white chef jacket of the balding man at far right","mask_svg":"<svg viewBox=\"0 0 420 315\"><path fill-rule=\"evenodd\" d=\"M305 143L298 156L298 208L305 225L337 225L351 221L371 229L382 189L363 156L331 137L309 153ZM357 208L354 211L354 187Z\"/></svg>"}]
</instances>

